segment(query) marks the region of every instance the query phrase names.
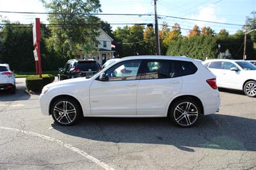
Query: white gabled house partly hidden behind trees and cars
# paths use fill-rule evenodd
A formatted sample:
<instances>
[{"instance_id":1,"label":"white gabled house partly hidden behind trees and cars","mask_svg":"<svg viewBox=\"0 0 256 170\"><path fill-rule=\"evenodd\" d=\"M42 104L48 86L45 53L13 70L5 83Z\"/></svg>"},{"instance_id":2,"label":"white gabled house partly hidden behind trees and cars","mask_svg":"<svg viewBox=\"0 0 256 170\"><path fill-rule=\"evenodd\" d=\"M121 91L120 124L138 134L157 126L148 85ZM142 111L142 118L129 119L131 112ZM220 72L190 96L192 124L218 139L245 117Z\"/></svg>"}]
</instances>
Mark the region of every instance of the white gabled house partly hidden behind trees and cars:
<instances>
[{"instance_id":1,"label":"white gabled house partly hidden behind trees and cars","mask_svg":"<svg viewBox=\"0 0 256 170\"><path fill-rule=\"evenodd\" d=\"M78 52L77 56L80 59L94 59L100 65L103 65L107 60L113 58L115 50L111 50L111 42L113 39L102 29L99 29L99 31L100 35L96 38L99 41L99 45L96 45L95 51L90 54Z\"/></svg>"}]
</instances>

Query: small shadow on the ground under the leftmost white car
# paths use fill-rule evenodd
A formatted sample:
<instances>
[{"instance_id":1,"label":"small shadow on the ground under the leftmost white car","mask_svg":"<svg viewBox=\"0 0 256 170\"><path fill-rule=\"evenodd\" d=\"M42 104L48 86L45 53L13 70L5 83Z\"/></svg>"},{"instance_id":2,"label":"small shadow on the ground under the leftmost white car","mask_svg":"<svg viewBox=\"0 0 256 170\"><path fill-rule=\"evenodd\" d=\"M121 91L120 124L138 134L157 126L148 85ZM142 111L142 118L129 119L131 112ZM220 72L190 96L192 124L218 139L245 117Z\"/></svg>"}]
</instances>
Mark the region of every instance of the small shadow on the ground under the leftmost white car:
<instances>
[{"instance_id":1,"label":"small shadow on the ground under the leftmost white car","mask_svg":"<svg viewBox=\"0 0 256 170\"><path fill-rule=\"evenodd\" d=\"M17 88L15 94L11 94L10 91L0 90L0 101L11 102L17 100L29 100L30 95L24 88Z\"/></svg>"}]
</instances>

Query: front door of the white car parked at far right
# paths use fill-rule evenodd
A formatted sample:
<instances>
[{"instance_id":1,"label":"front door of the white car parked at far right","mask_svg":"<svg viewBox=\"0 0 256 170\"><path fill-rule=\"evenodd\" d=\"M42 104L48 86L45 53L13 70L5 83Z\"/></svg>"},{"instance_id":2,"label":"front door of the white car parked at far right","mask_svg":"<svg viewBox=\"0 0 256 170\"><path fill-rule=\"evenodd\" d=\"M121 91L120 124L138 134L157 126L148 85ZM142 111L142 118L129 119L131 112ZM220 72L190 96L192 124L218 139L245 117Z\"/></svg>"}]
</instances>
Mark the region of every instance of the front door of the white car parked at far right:
<instances>
[{"instance_id":1,"label":"front door of the white car parked at far right","mask_svg":"<svg viewBox=\"0 0 256 170\"><path fill-rule=\"evenodd\" d=\"M230 68L237 68L237 71L230 70ZM223 88L239 88L241 82L243 81L243 77L241 75L241 71L239 68L229 61L223 62L223 72L222 72L223 80L222 86Z\"/></svg>"}]
</instances>

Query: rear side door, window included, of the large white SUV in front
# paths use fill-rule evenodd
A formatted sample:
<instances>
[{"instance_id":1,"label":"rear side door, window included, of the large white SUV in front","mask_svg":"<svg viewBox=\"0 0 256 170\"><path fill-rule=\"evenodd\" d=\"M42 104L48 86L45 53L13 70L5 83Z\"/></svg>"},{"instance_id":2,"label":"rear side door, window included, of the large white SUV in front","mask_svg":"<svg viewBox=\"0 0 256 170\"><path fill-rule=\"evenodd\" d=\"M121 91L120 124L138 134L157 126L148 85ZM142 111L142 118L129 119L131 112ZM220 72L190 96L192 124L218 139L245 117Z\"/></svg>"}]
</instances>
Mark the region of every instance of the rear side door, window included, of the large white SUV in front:
<instances>
[{"instance_id":1,"label":"rear side door, window included, of the large white SUV in front","mask_svg":"<svg viewBox=\"0 0 256 170\"><path fill-rule=\"evenodd\" d=\"M170 98L180 93L182 86L177 63L170 60L145 60L141 70L137 92L137 114L165 114Z\"/></svg>"}]
</instances>

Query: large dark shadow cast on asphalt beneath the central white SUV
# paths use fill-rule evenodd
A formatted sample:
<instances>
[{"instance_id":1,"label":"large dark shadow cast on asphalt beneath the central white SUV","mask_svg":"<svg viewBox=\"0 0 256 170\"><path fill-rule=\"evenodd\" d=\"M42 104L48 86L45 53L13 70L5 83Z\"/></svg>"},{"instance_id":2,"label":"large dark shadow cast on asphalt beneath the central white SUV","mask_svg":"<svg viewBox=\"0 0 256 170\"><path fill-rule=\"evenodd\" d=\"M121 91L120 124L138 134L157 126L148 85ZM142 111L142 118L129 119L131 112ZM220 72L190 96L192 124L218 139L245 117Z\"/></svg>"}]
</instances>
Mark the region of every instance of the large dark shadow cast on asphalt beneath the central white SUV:
<instances>
[{"instance_id":1,"label":"large dark shadow cast on asphalt beneath the central white SUV","mask_svg":"<svg viewBox=\"0 0 256 170\"><path fill-rule=\"evenodd\" d=\"M256 120L214 114L195 127L179 128L168 118L83 118L74 126L52 127L64 134L111 143L168 144L183 151L193 148L256 151Z\"/></svg>"}]
</instances>

